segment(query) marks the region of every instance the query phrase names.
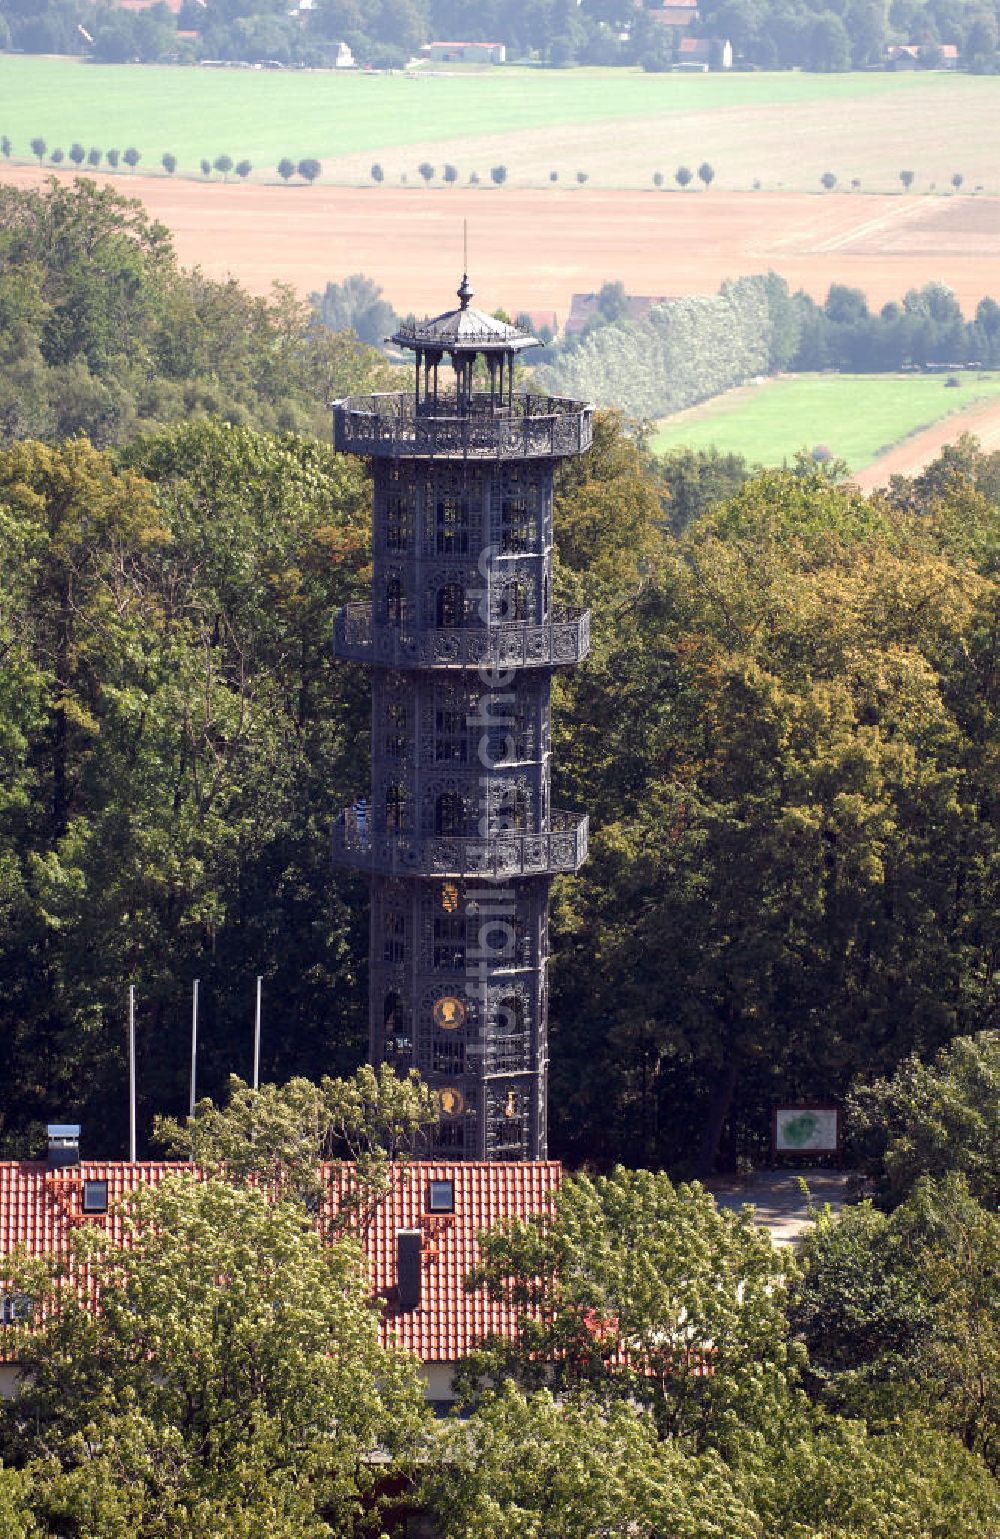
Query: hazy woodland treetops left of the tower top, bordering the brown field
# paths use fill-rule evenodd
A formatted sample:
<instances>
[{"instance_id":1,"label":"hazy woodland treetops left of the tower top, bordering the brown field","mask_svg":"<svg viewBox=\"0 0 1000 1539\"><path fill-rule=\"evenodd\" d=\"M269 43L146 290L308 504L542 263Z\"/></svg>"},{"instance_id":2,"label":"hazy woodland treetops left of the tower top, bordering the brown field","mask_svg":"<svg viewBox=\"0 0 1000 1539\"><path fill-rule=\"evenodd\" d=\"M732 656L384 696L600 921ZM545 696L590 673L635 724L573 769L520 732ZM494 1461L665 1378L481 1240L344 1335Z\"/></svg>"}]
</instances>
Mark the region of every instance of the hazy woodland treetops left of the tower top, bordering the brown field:
<instances>
[{"instance_id":1,"label":"hazy woodland treetops left of the tower top, bordering the brown field","mask_svg":"<svg viewBox=\"0 0 1000 1539\"><path fill-rule=\"evenodd\" d=\"M0 188L0 443L105 446L208 414L326 436L332 396L391 379L291 289L255 299L178 268L166 228L114 188Z\"/></svg>"}]
</instances>

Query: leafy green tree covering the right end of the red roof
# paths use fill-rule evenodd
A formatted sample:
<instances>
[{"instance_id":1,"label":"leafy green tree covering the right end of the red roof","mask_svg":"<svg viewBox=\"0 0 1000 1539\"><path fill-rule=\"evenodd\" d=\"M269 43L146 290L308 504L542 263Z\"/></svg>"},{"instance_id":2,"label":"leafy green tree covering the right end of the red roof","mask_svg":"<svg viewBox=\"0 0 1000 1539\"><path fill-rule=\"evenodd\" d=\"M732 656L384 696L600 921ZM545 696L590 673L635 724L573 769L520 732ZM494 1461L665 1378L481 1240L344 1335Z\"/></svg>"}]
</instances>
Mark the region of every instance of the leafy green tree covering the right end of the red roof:
<instances>
[{"instance_id":1,"label":"leafy green tree covering the right end of the red roof","mask_svg":"<svg viewBox=\"0 0 1000 1539\"><path fill-rule=\"evenodd\" d=\"M700 1187L649 1171L571 1177L551 1214L497 1225L482 1254L471 1287L520 1313L509 1340L488 1337L466 1362L466 1394L512 1379L645 1405L660 1436L723 1454L742 1422L775 1433L798 1414L786 1264L751 1216L720 1213Z\"/></svg>"}]
</instances>

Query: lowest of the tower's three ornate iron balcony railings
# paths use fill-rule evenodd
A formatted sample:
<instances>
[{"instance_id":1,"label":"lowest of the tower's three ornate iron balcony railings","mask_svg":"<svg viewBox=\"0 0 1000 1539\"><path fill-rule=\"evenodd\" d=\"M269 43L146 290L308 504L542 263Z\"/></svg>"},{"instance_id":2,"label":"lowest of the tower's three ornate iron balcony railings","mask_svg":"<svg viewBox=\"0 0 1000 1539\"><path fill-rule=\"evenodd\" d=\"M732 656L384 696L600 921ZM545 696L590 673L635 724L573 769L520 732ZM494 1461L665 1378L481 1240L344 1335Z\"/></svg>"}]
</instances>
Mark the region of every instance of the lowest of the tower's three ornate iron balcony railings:
<instances>
[{"instance_id":1,"label":"lowest of the tower's three ornate iron balcony railings","mask_svg":"<svg viewBox=\"0 0 1000 1539\"><path fill-rule=\"evenodd\" d=\"M552 810L542 834L495 831L488 837L378 833L346 810L334 823L332 862L380 876L517 877L578 871L589 820Z\"/></svg>"}]
</instances>

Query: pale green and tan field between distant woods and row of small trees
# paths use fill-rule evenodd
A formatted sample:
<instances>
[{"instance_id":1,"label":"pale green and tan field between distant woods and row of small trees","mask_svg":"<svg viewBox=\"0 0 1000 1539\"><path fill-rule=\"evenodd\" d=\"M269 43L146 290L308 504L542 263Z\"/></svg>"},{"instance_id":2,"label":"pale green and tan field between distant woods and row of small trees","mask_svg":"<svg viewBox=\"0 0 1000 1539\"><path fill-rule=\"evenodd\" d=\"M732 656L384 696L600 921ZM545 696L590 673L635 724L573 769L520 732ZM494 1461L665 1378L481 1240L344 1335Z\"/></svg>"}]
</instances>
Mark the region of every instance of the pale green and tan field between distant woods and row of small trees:
<instances>
[{"instance_id":1,"label":"pale green and tan field between distant woods and row of small trees","mask_svg":"<svg viewBox=\"0 0 1000 1539\"><path fill-rule=\"evenodd\" d=\"M818 191L832 169L848 186L897 188L903 165L920 189L962 171L1000 186L997 86L988 77L920 74L655 75L631 69L518 69L375 75L334 71L89 65L0 54L0 129L18 157L49 146L135 145L143 166L163 151L180 169L218 154L248 157L274 179L282 155L315 155L325 177L417 180L451 162L460 179L505 163L520 186L571 182L649 186L660 169L708 159L720 188ZM942 132L942 123L948 132ZM695 195L695 194L692 194Z\"/></svg>"}]
</instances>

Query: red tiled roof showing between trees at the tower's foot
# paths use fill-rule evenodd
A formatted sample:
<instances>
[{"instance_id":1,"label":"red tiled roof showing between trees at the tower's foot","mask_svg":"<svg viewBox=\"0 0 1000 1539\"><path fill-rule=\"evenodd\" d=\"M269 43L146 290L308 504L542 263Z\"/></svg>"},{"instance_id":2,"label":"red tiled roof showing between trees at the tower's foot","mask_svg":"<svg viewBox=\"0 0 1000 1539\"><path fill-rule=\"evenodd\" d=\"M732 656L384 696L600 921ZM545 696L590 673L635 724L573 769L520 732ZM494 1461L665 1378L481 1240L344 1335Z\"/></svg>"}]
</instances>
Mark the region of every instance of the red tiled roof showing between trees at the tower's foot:
<instances>
[{"instance_id":1,"label":"red tiled roof showing between trees at the tower's foot","mask_svg":"<svg viewBox=\"0 0 1000 1539\"><path fill-rule=\"evenodd\" d=\"M0 1256L15 1245L25 1245L32 1256L65 1251L71 1231L85 1224L100 1224L120 1240L117 1214L83 1213L83 1182L106 1180L108 1202L114 1205L140 1185L155 1187L172 1171L189 1168L168 1162L83 1160L48 1170L43 1163L0 1162ZM403 1168L363 1236L372 1293L386 1300L383 1339L397 1340L422 1362L457 1362L488 1331L512 1330L509 1308L492 1304L483 1293L465 1291L465 1279L478 1260L475 1236L500 1219L543 1211L558 1188L560 1171L554 1160L420 1162ZM332 1211L349 1180L349 1167L328 1171ZM454 1182L454 1213L428 1211L431 1180ZM411 1311L394 1307L397 1230L422 1230L425 1236L420 1307Z\"/></svg>"}]
</instances>

